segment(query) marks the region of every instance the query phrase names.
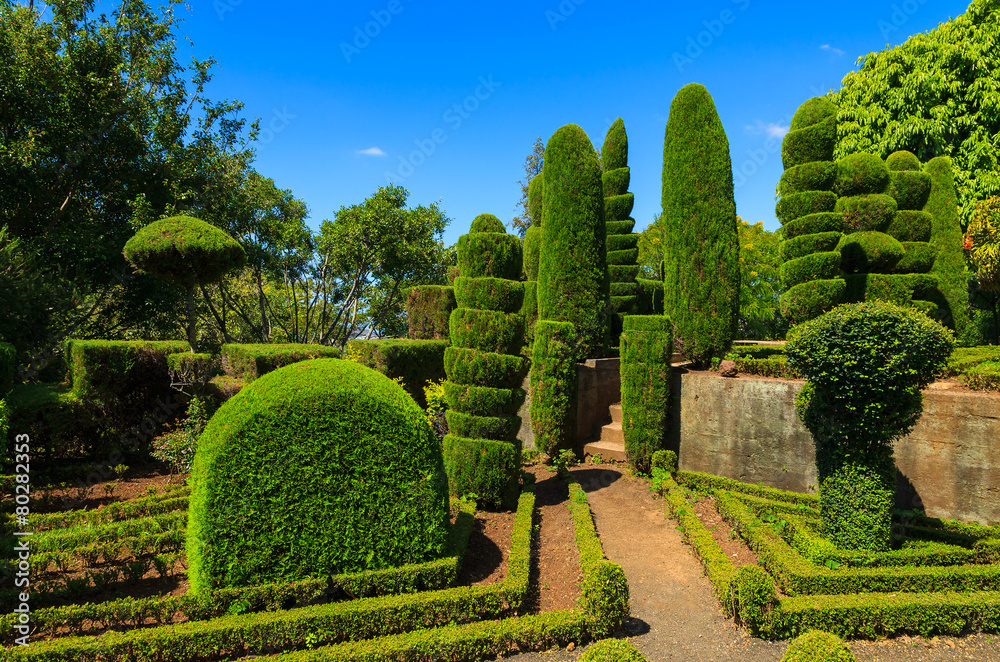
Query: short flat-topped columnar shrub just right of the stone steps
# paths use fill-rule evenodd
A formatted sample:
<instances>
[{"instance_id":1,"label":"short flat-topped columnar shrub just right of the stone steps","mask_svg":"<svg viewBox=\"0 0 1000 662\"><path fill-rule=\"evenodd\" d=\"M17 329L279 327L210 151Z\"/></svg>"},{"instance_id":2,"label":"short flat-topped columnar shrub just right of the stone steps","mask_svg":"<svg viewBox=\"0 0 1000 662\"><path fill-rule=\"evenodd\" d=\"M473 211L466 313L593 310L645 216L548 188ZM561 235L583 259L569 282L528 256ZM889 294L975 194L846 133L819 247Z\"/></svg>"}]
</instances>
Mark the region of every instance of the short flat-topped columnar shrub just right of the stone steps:
<instances>
[{"instance_id":1,"label":"short flat-topped columnar shrub just right of the stone steps","mask_svg":"<svg viewBox=\"0 0 1000 662\"><path fill-rule=\"evenodd\" d=\"M666 432L673 325L662 315L626 315L623 326L619 371L625 456L633 469L648 474Z\"/></svg>"}]
</instances>

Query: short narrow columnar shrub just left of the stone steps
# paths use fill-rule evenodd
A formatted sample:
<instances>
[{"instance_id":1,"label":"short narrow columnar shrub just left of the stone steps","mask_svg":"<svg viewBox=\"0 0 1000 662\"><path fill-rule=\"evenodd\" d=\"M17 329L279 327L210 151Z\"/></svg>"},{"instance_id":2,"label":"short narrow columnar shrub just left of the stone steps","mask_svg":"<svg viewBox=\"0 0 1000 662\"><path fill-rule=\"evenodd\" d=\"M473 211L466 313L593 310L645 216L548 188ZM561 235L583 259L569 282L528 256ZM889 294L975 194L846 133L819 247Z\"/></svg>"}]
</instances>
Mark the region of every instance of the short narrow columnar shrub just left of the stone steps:
<instances>
[{"instance_id":1,"label":"short narrow columnar shrub just left of the stone steps","mask_svg":"<svg viewBox=\"0 0 1000 662\"><path fill-rule=\"evenodd\" d=\"M531 359L531 430L535 447L554 455L572 445L576 427L576 329L539 320Z\"/></svg>"}]
</instances>

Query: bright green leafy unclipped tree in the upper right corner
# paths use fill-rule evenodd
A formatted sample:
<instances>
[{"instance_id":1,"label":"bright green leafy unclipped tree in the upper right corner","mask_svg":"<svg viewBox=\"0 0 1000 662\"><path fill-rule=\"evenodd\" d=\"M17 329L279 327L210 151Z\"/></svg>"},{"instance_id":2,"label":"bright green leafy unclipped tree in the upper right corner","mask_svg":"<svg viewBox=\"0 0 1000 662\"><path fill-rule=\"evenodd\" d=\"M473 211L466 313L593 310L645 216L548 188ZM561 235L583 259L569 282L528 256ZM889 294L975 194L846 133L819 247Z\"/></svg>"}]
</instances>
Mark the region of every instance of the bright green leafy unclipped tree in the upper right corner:
<instances>
[{"instance_id":1,"label":"bright green leafy unclipped tree in the upper right corner","mask_svg":"<svg viewBox=\"0 0 1000 662\"><path fill-rule=\"evenodd\" d=\"M975 202L1000 191L1000 117L993 103L998 36L995 5L975 0L965 14L866 55L834 95L837 154L908 150L923 162L951 157L967 225Z\"/></svg>"}]
</instances>

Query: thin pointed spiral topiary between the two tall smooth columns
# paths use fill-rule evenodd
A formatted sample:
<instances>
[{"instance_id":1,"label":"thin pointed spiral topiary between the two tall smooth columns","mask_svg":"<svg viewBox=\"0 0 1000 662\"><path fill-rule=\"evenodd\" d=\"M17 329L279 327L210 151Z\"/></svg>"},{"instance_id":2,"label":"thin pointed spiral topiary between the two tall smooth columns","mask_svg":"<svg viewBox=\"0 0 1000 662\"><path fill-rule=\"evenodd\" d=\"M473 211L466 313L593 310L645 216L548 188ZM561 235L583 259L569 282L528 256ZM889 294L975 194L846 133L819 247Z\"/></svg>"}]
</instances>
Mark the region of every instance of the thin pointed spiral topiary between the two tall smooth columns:
<instances>
[{"instance_id":1,"label":"thin pointed spiral topiary between the two tall smooth columns","mask_svg":"<svg viewBox=\"0 0 1000 662\"><path fill-rule=\"evenodd\" d=\"M611 272L610 320L611 344L618 344L621 334L621 315L631 313L636 304L638 284L632 273L639 259L639 235L632 232L635 219L630 216L635 195L628 192L628 135L622 118L615 120L601 148L601 167L604 169L604 218L607 228L608 270Z\"/></svg>"}]
</instances>

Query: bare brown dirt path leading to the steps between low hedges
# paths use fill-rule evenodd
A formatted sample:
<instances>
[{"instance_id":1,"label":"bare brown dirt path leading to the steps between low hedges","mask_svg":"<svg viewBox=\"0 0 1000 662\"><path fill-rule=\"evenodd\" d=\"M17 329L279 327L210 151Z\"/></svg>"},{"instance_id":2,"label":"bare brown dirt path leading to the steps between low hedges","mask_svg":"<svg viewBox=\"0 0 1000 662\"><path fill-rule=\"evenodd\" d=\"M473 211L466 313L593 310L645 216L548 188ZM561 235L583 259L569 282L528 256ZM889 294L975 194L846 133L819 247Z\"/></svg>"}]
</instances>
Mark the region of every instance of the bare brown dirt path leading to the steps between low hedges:
<instances>
[{"instance_id":1,"label":"bare brown dirt path leading to the steps between low hedges","mask_svg":"<svg viewBox=\"0 0 1000 662\"><path fill-rule=\"evenodd\" d=\"M622 635L649 662L778 662L788 642L747 635L724 618L702 565L647 483L591 465L574 470L590 498L608 558L628 576L632 619ZM851 642L858 662L1000 662L1000 636L900 637ZM576 660L580 649L516 655L518 662Z\"/></svg>"}]
</instances>

